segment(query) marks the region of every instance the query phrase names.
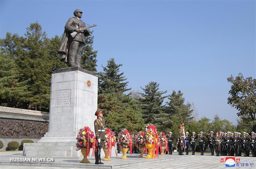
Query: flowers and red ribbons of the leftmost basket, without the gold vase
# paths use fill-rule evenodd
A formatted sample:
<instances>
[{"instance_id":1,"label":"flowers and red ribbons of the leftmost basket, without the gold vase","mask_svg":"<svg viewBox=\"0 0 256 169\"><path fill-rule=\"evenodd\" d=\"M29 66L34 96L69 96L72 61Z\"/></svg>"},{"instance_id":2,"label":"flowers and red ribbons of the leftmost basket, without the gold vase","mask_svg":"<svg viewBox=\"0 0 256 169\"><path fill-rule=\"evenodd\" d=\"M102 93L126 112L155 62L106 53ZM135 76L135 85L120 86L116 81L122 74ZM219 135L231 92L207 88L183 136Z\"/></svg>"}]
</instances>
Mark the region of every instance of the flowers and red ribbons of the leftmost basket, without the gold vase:
<instances>
[{"instance_id":1,"label":"flowers and red ribbons of the leftmost basket, without the gold vase","mask_svg":"<svg viewBox=\"0 0 256 169\"><path fill-rule=\"evenodd\" d=\"M93 131L89 127L85 126L81 128L77 133L76 140L76 151L85 148L89 150L95 148L96 139Z\"/></svg>"}]
</instances>

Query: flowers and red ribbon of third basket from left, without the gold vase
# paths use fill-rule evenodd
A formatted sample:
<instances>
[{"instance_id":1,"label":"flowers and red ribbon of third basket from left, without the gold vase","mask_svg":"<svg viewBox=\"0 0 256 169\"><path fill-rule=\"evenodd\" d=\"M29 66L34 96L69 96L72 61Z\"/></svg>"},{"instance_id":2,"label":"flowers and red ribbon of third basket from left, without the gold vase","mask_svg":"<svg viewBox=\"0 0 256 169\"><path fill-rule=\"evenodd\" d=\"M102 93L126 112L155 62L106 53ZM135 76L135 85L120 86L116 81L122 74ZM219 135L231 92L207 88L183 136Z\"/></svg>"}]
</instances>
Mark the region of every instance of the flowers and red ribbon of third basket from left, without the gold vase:
<instances>
[{"instance_id":1,"label":"flowers and red ribbon of third basket from left, without the gold vase","mask_svg":"<svg viewBox=\"0 0 256 169\"><path fill-rule=\"evenodd\" d=\"M132 137L127 129L122 129L122 131L118 133L118 140L120 148L130 147L130 154L132 154Z\"/></svg>"}]
</instances>

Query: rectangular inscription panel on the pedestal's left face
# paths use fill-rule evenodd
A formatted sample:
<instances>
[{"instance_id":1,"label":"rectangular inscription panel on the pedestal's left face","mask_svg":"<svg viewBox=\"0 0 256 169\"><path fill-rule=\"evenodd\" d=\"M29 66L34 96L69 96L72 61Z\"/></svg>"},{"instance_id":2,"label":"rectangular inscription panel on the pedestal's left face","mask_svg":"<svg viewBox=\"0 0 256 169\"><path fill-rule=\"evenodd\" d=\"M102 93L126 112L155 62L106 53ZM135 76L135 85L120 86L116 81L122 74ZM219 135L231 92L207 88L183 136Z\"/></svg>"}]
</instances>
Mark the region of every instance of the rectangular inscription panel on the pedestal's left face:
<instances>
[{"instance_id":1,"label":"rectangular inscription panel on the pedestal's left face","mask_svg":"<svg viewBox=\"0 0 256 169\"><path fill-rule=\"evenodd\" d=\"M55 107L70 106L71 89L56 91Z\"/></svg>"}]
</instances>

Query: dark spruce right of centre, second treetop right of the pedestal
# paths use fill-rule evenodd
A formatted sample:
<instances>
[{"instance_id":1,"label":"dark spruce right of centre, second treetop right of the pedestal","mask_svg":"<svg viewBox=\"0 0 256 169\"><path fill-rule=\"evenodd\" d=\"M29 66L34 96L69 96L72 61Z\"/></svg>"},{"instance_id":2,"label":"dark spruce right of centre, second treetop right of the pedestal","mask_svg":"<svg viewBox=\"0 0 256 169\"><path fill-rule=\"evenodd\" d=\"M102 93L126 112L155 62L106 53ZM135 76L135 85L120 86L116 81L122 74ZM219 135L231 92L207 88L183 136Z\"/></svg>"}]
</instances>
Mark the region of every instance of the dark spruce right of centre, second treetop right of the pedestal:
<instances>
[{"instance_id":1,"label":"dark spruce right of centre, second treetop right of the pedestal","mask_svg":"<svg viewBox=\"0 0 256 169\"><path fill-rule=\"evenodd\" d=\"M156 82L149 82L145 88L141 87L141 89L144 93L140 93L139 104L142 108L143 118L146 123L152 123L157 126L158 123L161 123L159 118L164 111L163 101L168 97L162 95L167 91L158 91L159 84Z\"/></svg>"}]
</instances>

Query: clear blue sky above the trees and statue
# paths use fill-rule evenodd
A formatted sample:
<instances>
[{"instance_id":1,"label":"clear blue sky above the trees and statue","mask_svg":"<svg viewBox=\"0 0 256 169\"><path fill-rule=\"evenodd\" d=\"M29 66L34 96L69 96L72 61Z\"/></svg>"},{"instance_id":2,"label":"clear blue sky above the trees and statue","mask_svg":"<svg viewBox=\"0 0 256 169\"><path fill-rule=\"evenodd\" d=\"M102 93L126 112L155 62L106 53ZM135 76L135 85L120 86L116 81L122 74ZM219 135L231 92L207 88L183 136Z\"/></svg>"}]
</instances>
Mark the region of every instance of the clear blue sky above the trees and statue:
<instances>
[{"instance_id":1,"label":"clear blue sky above the trees and statue","mask_svg":"<svg viewBox=\"0 0 256 169\"><path fill-rule=\"evenodd\" d=\"M236 123L227 104L230 75L255 78L255 1L0 1L0 38L23 36L38 22L49 38L61 35L75 9L97 24L98 67L114 57L132 90L150 81L181 90L199 117L219 114Z\"/></svg>"}]
</instances>

